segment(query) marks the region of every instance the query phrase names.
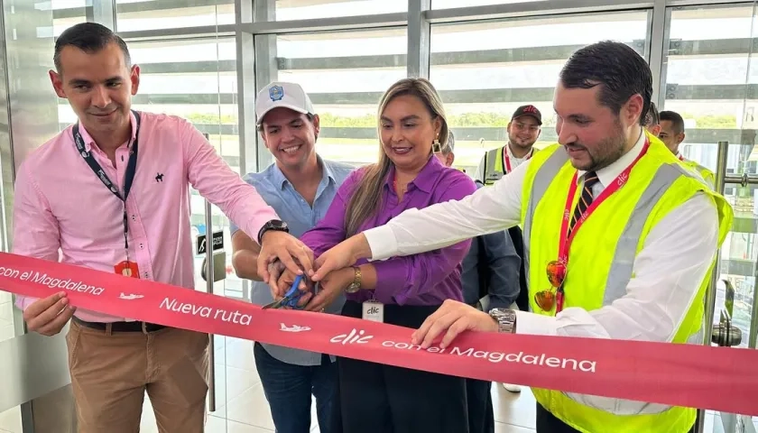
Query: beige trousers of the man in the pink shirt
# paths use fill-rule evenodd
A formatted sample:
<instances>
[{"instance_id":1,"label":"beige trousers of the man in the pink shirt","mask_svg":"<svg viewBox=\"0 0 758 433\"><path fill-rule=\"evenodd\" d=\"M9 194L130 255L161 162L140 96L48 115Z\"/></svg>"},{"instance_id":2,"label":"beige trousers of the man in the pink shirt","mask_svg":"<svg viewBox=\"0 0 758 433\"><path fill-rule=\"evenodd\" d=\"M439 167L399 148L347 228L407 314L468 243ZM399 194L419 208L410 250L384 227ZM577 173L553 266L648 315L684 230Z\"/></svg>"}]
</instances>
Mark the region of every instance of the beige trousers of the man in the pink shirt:
<instances>
[{"instance_id":1,"label":"beige trousers of the man in the pink shirt","mask_svg":"<svg viewBox=\"0 0 758 433\"><path fill-rule=\"evenodd\" d=\"M79 433L138 432L145 392L161 433L203 432L208 334L108 332L72 320L66 343Z\"/></svg>"}]
</instances>

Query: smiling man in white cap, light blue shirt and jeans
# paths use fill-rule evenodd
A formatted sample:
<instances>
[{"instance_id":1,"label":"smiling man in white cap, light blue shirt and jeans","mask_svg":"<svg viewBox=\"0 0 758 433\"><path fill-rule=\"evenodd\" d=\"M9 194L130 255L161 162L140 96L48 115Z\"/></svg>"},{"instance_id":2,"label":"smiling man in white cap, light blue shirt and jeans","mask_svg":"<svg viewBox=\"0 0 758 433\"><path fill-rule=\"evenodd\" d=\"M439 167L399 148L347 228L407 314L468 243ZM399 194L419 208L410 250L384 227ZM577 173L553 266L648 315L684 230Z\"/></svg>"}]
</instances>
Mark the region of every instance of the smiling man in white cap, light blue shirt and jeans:
<instances>
[{"instance_id":1,"label":"smiling man in white cap, light blue shirt and jeans","mask_svg":"<svg viewBox=\"0 0 758 433\"><path fill-rule=\"evenodd\" d=\"M300 236L324 217L337 189L353 167L326 161L316 152L319 115L310 97L297 84L273 82L255 100L255 115L263 143L274 163L260 173L245 175L289 226L291 235ZM232 263L240 278L253 280L254 304L273 301L271 289L258 275L259 247L242 230L231 227L234 255ZM344 296L326 312L339 313ZM254 344L255 366L269 401L278 433L310 431L311 394L316 398L316 414L322 433L337 432L337 367L334 357L278 345Z\"/></svg>"}]
</instances>

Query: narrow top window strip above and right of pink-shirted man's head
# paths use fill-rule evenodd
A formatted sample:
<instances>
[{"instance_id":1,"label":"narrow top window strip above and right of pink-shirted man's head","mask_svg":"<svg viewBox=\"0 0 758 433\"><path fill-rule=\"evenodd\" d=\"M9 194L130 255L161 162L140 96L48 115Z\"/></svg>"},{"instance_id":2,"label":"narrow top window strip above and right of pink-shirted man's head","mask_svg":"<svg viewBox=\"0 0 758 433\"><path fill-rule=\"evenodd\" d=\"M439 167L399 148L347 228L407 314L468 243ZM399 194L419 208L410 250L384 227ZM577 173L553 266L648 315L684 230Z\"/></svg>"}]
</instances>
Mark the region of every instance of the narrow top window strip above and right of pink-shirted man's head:
<instances>
[{"instance_id":1,"label":"narrow top window strip above and right of pink-shirted man's head","mask_svg":"<svg viewBox=\"0 0 758 433\"><path fill-rule=\"evenodd\" d=\"M116 0L118 32L233 23L234 0Z\"/></svg>"}]
</instances>

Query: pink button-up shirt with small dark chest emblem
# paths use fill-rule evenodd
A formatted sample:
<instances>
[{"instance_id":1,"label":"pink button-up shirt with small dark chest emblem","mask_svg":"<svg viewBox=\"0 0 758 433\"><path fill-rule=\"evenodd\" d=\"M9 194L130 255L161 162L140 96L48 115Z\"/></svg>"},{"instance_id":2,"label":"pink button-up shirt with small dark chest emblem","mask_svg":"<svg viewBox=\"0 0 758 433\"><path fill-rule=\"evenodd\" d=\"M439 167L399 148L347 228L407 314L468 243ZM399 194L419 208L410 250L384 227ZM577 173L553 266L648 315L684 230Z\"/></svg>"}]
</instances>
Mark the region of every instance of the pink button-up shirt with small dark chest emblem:
<instances>
[{"instance_id":1,"label":"pink button-up shirt with small dark chest emblem","mask_svg":"<svg viewBox=\"0 0 758 433\"><path fill-rule=\"evenodd\" d=\"M137 263L144 280L193 289L189 185L253 239L266 222L278 217L188 121L143 112L140 117L136 175L126 199L129 259ZM32 152L18 170L13 251L115 272L116 263L126 260L124 203L77 152L71 129ZM132 138L116 150L114 167L79 125L88 152L122 195L135 130L132 115ZM16 305L25 309L34 300L19 297ZM97 322L130 320L81 309L76 315Z\"/></svg>"}]
</instances>

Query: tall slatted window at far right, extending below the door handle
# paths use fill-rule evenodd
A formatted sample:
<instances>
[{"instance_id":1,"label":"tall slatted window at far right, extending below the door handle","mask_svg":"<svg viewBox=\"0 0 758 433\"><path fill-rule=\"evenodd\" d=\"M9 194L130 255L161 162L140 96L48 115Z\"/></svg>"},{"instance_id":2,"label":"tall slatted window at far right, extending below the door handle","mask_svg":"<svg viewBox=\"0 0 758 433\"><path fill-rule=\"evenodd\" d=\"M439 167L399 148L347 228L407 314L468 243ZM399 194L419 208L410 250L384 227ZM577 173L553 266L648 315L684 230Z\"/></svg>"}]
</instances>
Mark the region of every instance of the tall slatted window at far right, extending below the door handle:
<instances>
[{"instance_id":1,"label":"tall slatted window at far right, extending below the door handle","mask_svg":"<svg viewBox=\"0 0 758 433\"><path fill-rule=\"evenodd\" d=\"M669 50L665 53L663 109L679 113L686 138L685 158L716 169L716 143L729 142L727 173L754 173L758 69L751 53L756 18L753 6L708 6L671 10ZM721 248L721 279L735 288L733 320L747 345L753 306L755 188L727 185L735 223ZM716 286L716 314L724 308L725 284Z\"/></svg>"}]
</instances>

